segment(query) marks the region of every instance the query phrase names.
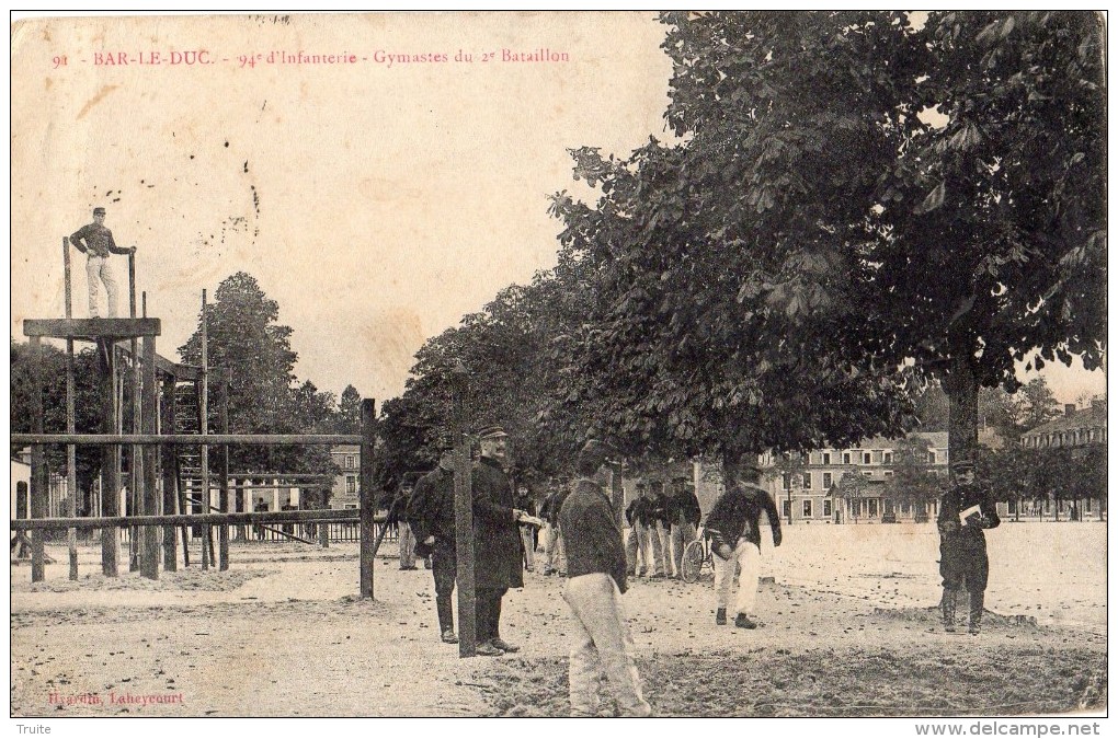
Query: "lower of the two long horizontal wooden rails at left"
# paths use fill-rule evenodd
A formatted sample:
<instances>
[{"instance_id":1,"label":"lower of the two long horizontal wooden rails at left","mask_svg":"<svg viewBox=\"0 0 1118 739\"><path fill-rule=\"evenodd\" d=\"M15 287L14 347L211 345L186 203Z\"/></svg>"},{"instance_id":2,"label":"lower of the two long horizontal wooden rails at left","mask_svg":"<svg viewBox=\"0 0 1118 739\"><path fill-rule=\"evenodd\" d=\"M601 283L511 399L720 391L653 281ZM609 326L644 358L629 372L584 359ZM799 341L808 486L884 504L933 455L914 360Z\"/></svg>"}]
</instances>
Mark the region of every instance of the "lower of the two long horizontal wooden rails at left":
<instances>
[{"instance_id":1,"label":"lower of the two long horizontal wooden rails at left","mask_svg":"<svg viewBox=\"0 0 1118 739\"><path fill-rule=\"evenodd\" d=\"M221 526L222 524L345 524L358 522L356 508L275 510L254 514L178 514L174 516L112 516L105 518L22 518L11 521L13 531L123 528L126 526Z\"/></svg>"}]
</instances>

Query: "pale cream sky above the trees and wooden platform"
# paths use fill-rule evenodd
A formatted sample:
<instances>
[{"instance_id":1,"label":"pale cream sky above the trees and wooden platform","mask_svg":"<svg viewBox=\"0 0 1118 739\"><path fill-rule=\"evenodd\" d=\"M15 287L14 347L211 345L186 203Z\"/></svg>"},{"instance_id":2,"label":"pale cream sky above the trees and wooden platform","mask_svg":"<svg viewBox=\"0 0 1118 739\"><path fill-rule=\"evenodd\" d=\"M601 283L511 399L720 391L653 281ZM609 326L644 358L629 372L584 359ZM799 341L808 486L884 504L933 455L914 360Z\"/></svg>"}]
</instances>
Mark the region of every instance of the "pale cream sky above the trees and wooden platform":
<instances>
[{"instance_id":1,"label":"pale cream sky above the trees and wooden platform","mask_svg":"<svg viewBox=\"0 0 1118 739\"><path fill-rule=\"evenodd\" d=\"M398 395L426 338L555 263L547 198L586 194L568 148L624 156L670 137L663 36L644 12L22 21L12 336L63 315L61 237L104 205L117 243L139 248L163 356L178 358L202 290L246 271L294 329L300 382ZM345 61L282 63L300 51ZM1045 374L1062 402L1105 390L1101 373Z\"/></svg>"}]
</instances>

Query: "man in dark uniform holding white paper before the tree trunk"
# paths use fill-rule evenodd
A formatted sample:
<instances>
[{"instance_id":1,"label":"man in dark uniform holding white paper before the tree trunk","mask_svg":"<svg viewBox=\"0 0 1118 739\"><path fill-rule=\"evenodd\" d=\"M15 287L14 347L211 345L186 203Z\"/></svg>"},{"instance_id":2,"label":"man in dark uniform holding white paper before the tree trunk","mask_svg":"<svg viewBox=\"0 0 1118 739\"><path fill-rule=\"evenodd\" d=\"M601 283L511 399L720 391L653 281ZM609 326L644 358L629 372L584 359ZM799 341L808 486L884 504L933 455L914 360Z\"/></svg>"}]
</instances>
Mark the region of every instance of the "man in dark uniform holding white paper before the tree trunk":
<instances>
[{"instance_id":1,"label":"man in dark uniform holding white paper before the tree trunk","mask_svg":"<svg viewBox=\"0 0 1118 739\"><path fill-rule=\"evenodd\" d=\"M970 594L970 633L982 628L982 613L989 575L984 529L996 528L1002 520L989 491L975 483L974 463L951 463L955 484L939 503L939 574L944 578L944 630L955 631L955 605L965 586Z\"/></svg>"}]
</instances>

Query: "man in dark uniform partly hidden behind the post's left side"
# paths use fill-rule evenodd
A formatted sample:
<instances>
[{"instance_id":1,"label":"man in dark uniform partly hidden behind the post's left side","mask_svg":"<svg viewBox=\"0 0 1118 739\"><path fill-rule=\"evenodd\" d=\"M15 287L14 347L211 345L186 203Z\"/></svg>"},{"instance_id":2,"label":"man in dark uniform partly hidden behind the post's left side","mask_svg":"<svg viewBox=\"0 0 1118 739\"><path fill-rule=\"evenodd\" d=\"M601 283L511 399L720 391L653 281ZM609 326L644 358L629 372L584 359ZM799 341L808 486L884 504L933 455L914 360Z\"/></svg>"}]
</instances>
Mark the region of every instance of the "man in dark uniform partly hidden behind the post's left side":
<instances>
[{"instance_id":1,"label":"man in dark uniform partly hidden behind the post's left side","mask_svg":"<svg viewBox=\"0 0 1118 739\"><path fill-rule=\"evenodd\" d=\"M408 502L408 519L415 534L416 554L430 557L435 576L435 610L438 631L447 644L457 644L454 633L454 583L458 559L454 538L454 451L447 449L438 467L416 482Z\"/></svg>"}]
</instances>

